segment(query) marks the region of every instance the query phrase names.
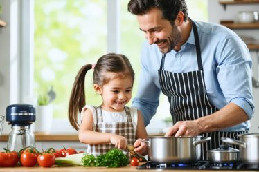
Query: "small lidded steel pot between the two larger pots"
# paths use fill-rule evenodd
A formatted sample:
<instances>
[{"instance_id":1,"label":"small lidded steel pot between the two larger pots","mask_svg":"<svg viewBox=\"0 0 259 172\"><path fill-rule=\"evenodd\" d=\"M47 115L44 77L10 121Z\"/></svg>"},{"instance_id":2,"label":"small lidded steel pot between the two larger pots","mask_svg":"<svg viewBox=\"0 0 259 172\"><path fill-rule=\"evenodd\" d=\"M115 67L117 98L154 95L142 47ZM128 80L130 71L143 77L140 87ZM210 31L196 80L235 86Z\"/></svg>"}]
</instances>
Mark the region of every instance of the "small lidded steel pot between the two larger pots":
<instances>
[{"instance_id":1,"label":"small lidded steel pot between the two larger pots","mask_svg":"<svg viewBox=\"0 0 259 172\"><path fill-rule=\"evenodd\" d=\"M217 163L237 162L239 160L239 150L231 148L229 144L223 144L217 149L208 151L208 160Z\"/></svg>"}]
</instances>

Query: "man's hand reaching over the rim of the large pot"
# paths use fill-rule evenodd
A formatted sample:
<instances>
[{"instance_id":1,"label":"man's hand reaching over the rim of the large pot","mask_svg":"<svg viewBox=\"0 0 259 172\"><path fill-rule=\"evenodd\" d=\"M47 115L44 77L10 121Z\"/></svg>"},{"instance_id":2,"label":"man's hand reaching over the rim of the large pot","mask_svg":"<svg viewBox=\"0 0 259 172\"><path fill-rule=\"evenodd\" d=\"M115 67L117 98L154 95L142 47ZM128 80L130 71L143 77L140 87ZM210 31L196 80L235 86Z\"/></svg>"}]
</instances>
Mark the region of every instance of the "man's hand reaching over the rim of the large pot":
<instances>
[{"instance_id":1,"label":"man's hand reaching over the rim of the large pot","mask_svg":"<svg viewBox=\"0 0 259 172\"><path fill-rule=\"evenodd\" d=\"M179 121L173 125L165 136L197 136L201 133L195 121Z\"/></svg>"}]
</instances>

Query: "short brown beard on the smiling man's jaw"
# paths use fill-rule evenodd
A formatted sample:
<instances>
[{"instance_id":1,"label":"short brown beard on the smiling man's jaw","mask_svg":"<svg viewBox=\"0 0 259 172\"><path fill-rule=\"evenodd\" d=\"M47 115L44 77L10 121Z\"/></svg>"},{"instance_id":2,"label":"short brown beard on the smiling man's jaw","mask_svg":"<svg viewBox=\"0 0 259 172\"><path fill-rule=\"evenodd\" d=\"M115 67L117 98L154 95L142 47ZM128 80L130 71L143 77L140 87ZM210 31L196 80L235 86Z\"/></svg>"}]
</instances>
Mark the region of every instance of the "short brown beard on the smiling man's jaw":
<instances>
[{"instance_id":1,"label":"short brown beard on the smiling man's jaw","mask_svg":"<svg viewBox=\"0 0 259 172\"><path fill-rule=\"evenodd\" d=\"M168 52L170 52L172 49L175 48L175 46L177 45L178 41L181 38L181 34L177 31L177 27L175 26L175 24L172 26L172 32L169 35L168 39L162 39L159 41L156 41L154 44L161 44L162 42L167 42L168 43L168 48L163 48L160 49L160 52L162 52L163 54L166 54Z\"/></svg>"}]
</instances>

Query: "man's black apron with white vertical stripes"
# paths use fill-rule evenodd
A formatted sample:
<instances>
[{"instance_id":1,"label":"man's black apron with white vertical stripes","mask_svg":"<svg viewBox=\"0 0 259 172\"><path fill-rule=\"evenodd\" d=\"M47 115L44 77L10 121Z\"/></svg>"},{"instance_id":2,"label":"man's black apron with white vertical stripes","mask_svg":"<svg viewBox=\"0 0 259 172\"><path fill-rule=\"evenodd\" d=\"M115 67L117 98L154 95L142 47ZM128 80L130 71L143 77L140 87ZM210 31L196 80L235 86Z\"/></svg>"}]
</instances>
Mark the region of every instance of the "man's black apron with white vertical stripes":
<instances>
[{"instance_id":1,"label":"man's black apron with white vertical stripes","mask_svg":"<svg viewBox=\"0 0 259 172\"><path fill-rule=\"evenodd\" d=\"M195 36L195 47L199 70L187 73L171 73L163 70L166 54L163 54L160 69L158 70L161 91L168 97L173 124L178 121L195 120L199 117L204 117L218 111L218 109L211 104L206 93L197 27L193 21L192 25ZM220 140L221 137L238 139L237 135L241 133L249 133L249 130L238 132L213 131L211 133L200 133L200 135L204 137L211 137L211 141L202 144L202 160L208 159L208 150L216 149L220 144L223 144ZM231 146L238 149L238 146L236 145Z\"/></svg>"}]
</instances>

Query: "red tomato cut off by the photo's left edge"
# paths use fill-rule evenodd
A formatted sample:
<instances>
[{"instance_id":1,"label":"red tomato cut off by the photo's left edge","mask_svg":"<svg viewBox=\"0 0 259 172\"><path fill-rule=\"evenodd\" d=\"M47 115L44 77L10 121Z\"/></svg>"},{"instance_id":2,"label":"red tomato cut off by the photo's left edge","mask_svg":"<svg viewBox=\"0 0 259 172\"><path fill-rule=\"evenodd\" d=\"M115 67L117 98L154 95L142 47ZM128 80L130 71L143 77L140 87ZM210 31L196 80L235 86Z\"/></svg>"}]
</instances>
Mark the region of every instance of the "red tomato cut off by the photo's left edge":
<instances>
[{"instance_id":1,"label":"red tomato cut off by the photo's left edge","mask_svg":"<svg viewBox=\"0 0 259 172\"><path fill-rule=\"evenodd\" d=\"M17 152L5 150L6 152L0 152L0 166L15 166L19 160Z\"/></svg>"}]
</instances>

